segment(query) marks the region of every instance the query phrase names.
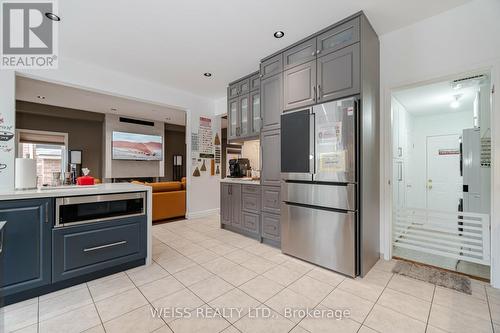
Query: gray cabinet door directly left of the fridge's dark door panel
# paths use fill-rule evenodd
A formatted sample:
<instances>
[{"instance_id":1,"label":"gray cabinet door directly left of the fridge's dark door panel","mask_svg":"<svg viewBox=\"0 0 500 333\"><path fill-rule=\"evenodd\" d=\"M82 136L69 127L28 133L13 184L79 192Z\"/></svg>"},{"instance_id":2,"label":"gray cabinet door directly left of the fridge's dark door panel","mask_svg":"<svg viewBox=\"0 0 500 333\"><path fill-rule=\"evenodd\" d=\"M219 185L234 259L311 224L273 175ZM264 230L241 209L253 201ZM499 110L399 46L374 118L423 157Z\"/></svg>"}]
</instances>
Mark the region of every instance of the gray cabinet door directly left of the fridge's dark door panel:
<instances>
[{"instance_id":1,"label":"gray cabinet door directly left of the fridge's dark door panel","mask_svg":"<svg viewBox=\"0 0 500 333\"><path fill-rule=\"evenodd\" d=\"M280 142L279 130L262 132L260 134L260 151L262 156L260 179L262 185L281 185Z\"/></svg>"}]
</instances>

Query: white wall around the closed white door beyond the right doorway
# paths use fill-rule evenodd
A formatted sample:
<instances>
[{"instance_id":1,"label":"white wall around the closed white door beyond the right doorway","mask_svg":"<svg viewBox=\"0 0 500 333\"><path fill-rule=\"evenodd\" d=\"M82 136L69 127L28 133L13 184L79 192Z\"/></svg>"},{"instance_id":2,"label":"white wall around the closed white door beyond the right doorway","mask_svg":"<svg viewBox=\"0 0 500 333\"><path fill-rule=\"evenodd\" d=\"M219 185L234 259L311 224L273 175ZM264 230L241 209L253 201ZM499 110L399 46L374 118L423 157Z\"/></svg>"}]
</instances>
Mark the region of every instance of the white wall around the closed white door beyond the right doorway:
<instances>
[{"instance_id":1,"label":"white wall around the closed white door beyond the right doorway","mask_svg":"<svg viewBox=\"0 0 500 333\"><path fill-rule=\"evenodd\" d=\"M436 135L461 135L462 130L473 128L472 110L453 113L414 116L410 122L407 165L407 206L426 208L427 137ZM457 143L458 145L458 143ZM458 165L457 165L458 168Z\"/></svg>"}]
</instances>

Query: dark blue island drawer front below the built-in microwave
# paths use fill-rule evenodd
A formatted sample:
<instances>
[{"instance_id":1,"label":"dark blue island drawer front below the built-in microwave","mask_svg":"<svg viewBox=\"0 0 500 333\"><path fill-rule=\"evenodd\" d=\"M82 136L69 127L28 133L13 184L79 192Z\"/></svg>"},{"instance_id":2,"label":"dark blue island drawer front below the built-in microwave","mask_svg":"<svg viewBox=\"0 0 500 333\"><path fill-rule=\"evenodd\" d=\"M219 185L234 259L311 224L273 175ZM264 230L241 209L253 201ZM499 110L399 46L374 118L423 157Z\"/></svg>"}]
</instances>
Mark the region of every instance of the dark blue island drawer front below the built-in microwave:
<instances>
[{"instance_id":1,"label":"dark blue island drawer front below the built-in microwave","mask_svg":"<svg viewBox=\"0 0 500 333\"><path fill-rule=\"evenodd\" d=\"M146 257L146 218L54 229L52 281Z\"/></svg>"}]
</instances>

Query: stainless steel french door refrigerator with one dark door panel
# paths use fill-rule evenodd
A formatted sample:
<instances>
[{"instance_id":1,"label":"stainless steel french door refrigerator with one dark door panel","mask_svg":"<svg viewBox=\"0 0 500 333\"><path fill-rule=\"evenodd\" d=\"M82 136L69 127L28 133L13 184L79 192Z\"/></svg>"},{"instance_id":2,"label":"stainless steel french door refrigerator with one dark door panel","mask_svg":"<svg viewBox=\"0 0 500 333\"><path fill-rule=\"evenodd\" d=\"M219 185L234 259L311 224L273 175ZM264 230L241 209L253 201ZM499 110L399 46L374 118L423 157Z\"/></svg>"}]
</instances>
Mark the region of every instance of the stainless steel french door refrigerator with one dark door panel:
<instances>
[{"instance_id":1,"label":"stainless steel french door refrigerator with one dark door panel","mask_svg":"<svg viewBox=\"0 0 500 333\"><path fill-rule=\"evenodd\" d=\"M360 274L358 97L281 116L281 247ZM379 235L374 235L379 237Z\"/></svg>"}]
</instances>

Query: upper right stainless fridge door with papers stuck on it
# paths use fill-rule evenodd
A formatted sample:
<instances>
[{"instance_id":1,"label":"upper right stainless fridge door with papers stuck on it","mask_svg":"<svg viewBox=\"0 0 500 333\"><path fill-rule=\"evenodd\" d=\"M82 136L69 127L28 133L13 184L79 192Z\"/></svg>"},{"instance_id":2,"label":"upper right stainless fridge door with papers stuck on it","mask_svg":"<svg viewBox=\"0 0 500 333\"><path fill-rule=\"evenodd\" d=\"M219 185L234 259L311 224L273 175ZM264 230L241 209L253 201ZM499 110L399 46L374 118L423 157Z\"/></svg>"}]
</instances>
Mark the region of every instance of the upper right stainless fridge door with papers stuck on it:
<instances>
[{"instance_id":1,"label":"upper right stainless fridge door with papers stuck on it","mask_svg":"<svg viewBox=\"0 0 500 333\"><path fill-rule=\"evenodd\" d=\"M356 181L357 100L315 105L315 171L313 180Z\"/></svg>"}]
</instances>

